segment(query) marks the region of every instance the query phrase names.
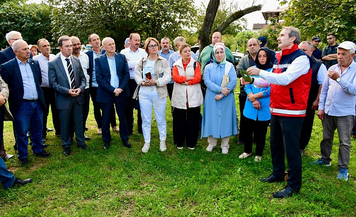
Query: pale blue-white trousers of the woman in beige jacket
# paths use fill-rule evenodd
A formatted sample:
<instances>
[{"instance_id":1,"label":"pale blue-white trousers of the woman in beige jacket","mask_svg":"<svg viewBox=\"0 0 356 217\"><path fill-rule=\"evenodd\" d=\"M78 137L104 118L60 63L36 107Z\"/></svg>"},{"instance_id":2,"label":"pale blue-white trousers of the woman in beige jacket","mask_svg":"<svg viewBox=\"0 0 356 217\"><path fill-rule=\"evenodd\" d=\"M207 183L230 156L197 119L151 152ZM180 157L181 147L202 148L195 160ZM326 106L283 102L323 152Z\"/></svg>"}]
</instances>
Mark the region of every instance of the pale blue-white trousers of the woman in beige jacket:
<instances>
[{"instance_id":1,"label":"pale blue-white trousers of the woman in beige jacket","mask_svg":"<svg viewBox=\"0 0 356 217\"><path fill-rule=\"evenodd\" d=\"M165 108L167 98L159 99L158 92L155 86L140 87L139 102L142 117L142 132L145 142L151 141L151 120L152 120L152 107L156 117L159 140L165 141L167 136L167 124L165 122Z\"/></svg>"}]
</instances>

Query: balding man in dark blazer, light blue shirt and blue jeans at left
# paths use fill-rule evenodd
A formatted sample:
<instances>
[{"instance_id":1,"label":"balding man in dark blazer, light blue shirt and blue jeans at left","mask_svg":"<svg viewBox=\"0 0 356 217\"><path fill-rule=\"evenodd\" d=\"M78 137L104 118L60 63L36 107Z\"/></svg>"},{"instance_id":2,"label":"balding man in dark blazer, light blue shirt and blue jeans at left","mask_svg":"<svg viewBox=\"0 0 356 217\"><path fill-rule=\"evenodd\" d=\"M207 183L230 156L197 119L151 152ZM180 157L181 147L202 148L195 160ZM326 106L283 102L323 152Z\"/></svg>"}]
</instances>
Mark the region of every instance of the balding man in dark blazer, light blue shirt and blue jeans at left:
<instances>
[{"instance_id":1,"label":"balding man in dark blazer, light blue shirt and blue jeans at left","mask_svg":"<svg viewBox=\"0 0 356 217\"><path fill-rule=\"evenodd\" d=\"M40 84L41 68L30 59L28 44L18 39L12 44L16 58L0 66L0 75L9 86L9 106L15 119L18 158L28 163L28 127L31 128L32 151L36 156L49 157L42 143L42 107L44 97Z\"/></svg>"}]
</instances>

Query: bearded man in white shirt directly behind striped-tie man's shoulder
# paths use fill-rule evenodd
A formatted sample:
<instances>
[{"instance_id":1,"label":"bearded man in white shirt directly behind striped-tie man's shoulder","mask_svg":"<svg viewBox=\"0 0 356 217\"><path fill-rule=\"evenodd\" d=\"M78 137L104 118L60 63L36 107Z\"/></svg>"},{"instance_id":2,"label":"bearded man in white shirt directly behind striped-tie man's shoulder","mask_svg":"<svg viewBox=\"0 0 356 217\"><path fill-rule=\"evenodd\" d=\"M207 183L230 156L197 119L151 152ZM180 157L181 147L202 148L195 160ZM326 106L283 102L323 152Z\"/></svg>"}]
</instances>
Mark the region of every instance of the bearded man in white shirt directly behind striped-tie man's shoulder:
<instances>
[{"instance_id":1,"label":"bearded man in white shirt directly behind striped-tie man's shoulder","mask_svg":"<svg viewBox=\"0 0 356 217\"><path fill-rule=\"evenodd\" d=\"M72 54L76 56L80 64L83 68L83 73L87 82L85 83L85 89L83 92L84 95L84 105L83 105L83 127L86 129L85 124L87 122L88 114L89 114L89 103L90 103L90 92L89 92L89 75L87 73L87 69L89 68L89 57L82 50L82 43L80 43L80 39L76 36L71 37L73 51ZM85 140L89 140L90 137L84 135Z\"/></svg>"}]
</instances>

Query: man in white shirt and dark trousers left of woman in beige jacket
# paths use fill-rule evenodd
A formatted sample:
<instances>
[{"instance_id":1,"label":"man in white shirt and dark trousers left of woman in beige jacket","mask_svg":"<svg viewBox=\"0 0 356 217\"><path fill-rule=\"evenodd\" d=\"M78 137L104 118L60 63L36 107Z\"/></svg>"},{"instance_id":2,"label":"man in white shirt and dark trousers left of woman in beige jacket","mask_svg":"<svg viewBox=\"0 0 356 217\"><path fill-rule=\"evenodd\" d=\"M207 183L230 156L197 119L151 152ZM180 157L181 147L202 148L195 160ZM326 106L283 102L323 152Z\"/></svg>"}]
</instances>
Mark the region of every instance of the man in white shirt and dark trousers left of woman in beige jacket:
<instances>
[{"instance_id":1,"label":"man in white shirt and dark trousers left of woman in beige jacket","mask_svg":"<svg viewBox=\"0 0 356 217\"><path fill-rule=\"evenodd\" d=\"M138 132L142 133L142 118L141 118L141 110L140 105L136 100L132 97L134 96L134 92L136 90L137 84L135 82L135 67L136 63L140 61L143 57L147 56L147 53L144 49L140 48L141 38L138 33L130 34L130 47L123 49L120 53L126 56L126 59L129 64L130 69L130 80L129 80L129 90L130 97L128 97L127 107L126 107L126 117L129 127L130 134L133 133L134 128L134 108L137 109L137 128Z\"/></svg>"}]
</instances>

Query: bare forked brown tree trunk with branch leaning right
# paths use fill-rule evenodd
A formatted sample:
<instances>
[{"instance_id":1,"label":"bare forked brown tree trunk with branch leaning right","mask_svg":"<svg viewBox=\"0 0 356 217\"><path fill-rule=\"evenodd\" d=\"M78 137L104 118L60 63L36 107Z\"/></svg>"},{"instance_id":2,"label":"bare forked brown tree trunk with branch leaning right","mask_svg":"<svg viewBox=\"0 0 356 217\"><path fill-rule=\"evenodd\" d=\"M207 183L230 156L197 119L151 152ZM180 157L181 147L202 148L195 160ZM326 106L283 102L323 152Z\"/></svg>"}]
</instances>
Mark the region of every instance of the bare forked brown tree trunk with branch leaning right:
<instances>
[{"instance_id":1,"label":"bare forked brown tree trunk with branch leaning right","mask_svg":"<svg viewBox=\"0 0 356 217\"><path fill-rule=\"evenodd\" d=\"M219 6L220 6L220 0L209 1L208 7L206 9L205 19L199 31L199 37L198 37L198 39L200 40L201 50L210 44L211 33L216 31L223 33L224 30L235 20L238 20L242 18L244 15L247 15L249 13L260 11L262 8L262 5L258 5L258 6L251 6L243 10L235 11L234 13L229 15L217 28L213 29L215 17L219 9Z\"/></svg>"}]
</instances>

